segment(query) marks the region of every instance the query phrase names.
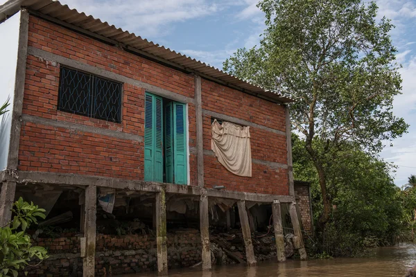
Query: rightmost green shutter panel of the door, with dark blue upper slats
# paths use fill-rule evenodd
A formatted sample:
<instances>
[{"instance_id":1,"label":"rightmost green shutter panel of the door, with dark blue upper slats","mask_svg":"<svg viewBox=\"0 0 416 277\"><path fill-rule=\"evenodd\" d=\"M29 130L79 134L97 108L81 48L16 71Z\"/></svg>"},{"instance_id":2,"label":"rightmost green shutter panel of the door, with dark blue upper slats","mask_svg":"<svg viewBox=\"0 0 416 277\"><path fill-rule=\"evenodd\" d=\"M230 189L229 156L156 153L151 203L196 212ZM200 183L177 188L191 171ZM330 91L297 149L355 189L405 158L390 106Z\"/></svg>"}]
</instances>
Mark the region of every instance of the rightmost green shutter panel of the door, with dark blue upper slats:
<instances>
[{"instance_id":1,"label":"rightmost green shutter panel of the door, with dark blue upper slats","mask_svg":"<svg viewBox=\"0 0 416 277\"><path fill-rule=\"evenodd\" d=\"M186 106L173 102L173 163L175 184L188 184Z\"/></svg>"}]
</instances>

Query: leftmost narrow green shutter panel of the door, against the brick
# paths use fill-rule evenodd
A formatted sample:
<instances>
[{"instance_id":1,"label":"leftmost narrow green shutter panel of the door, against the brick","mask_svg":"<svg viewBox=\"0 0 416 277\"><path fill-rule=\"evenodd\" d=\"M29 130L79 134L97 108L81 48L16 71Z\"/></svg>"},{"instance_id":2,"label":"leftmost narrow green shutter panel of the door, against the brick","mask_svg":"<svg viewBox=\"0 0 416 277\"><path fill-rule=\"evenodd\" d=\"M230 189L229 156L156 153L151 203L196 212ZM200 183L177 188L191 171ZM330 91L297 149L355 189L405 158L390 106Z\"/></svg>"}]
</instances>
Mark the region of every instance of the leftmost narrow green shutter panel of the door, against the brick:
<instances>
[{"instance_id":1,"label":"leftmost narrow green shutter panel of the door, against the brick","mask_svg":"<svg viewBox=\"0 0 416 277\"><path fill-rule=\"evenodd\" d=\"M153 96L146 93L144 101L144 181L153 181L153 177L155 176L153 102Z\"/></svg>"}]
</instances>

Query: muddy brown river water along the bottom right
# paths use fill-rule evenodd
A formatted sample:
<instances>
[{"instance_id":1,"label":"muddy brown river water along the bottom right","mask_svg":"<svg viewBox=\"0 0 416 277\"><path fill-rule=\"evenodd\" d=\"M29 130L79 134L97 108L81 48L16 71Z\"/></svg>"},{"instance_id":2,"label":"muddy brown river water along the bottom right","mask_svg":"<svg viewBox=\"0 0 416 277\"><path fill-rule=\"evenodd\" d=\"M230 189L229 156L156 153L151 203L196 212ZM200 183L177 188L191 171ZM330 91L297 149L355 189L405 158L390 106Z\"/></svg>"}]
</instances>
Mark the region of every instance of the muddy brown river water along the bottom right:
<instances>
[{"instance_id":1,"label":"muddy brown river water along the bottom right","mask_svg":"<svg viewBox=\"0 0 416 277\"><path fill-rule=\"evenodd\" d=\"M404 276L416 265L416 245L382 247L369 258L335 258L326 260L288 260L284 263L261 262L257 267L221 266L211 272L200 269L171 269L175 277L269 277L269 276ZM133 274L129 277L155 276ZM126 277L126 276L124 276Z\"/></svg>"}]
</instances>

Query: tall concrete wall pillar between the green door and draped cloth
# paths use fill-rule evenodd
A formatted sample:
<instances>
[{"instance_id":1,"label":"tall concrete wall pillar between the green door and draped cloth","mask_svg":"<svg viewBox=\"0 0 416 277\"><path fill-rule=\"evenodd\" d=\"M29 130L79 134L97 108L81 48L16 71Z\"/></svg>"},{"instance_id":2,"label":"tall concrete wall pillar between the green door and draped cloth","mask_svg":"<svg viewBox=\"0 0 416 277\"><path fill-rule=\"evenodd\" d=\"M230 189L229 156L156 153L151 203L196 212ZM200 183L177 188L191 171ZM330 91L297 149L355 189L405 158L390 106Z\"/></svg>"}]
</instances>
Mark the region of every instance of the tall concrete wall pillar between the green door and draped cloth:
<instances>
[{"instance_id":1,"label":"tall concrete wall pillar between the green door and draped cloth","mask_svg":"<svg viewBox=\"0 0 416 277\"><path fill-rule=\"evenodd\" d=\"M198 186L204 187L204 141L202 126L202 91L201 78L195 76L195 115L196 115L196 161L198 173Z\"/></svg>"}]
</instances>

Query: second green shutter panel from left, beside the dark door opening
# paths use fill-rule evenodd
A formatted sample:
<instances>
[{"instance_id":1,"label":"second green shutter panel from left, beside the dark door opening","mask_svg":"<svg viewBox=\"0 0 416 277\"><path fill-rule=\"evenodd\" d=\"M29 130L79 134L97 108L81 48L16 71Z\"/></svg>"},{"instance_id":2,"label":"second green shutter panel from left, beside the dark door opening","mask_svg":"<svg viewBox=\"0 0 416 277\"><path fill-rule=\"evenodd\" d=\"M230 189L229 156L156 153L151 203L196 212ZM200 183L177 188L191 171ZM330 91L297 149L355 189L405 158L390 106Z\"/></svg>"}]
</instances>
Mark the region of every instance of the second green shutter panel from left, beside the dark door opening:
<instances>
[{"instance_id":1,"label":"second green shutter panel from left, beside the dark door opening","mask_svg":"<svg viewBox=\"0 0 416 277\"><path fill-rule=\"evenodd\" d=\"M163 182L163 107L162 98L155 96L155 179Z\"/></svg>"}]
</instances>

